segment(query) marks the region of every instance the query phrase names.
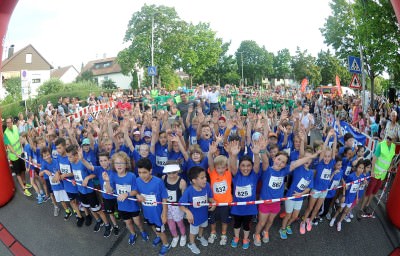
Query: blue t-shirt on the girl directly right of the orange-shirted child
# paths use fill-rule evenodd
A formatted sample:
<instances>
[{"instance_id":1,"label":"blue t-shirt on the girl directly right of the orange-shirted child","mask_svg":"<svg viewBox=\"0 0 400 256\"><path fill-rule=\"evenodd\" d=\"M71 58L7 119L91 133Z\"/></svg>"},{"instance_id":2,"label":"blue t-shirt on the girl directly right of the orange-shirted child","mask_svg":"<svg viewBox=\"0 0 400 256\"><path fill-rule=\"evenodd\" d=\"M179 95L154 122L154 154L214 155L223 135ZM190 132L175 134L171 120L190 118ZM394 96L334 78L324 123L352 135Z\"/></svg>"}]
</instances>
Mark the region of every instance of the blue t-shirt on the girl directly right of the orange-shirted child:
<instances>
[{"instance_id":1,"label":"blue t-shirt on the girl directly right of the orange-shirted child","mask_svg":"<svg viewBox=\"0 0 400 256\"><path fill-rule=\"evenodd\" d=\"M243 176L238 170L237 174L233 177L233 201L234 202L248 202L256 200L257 182L260 178L260 173L255 173L251 170L250 174ZM238 216L256 215L258 213L257 205L234 205L231 207L231 214Z\"/></svg>"}]
</instances>

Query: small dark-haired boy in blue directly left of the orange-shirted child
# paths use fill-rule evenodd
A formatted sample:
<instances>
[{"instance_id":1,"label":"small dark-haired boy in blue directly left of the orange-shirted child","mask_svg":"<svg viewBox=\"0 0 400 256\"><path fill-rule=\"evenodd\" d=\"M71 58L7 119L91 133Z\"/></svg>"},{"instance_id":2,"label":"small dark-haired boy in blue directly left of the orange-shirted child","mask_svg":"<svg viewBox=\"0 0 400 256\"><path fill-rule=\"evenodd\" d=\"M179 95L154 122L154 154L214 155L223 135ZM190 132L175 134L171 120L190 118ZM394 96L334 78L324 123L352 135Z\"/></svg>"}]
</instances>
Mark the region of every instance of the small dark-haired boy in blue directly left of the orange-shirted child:
<instances>
[{"instance_id":1,"label":"small dark-haired boy in blue directly left of the orange-shirted child","mask_svg":"<svg viewBox=\"0 0 400 256\"><path fill-rule=\"evenodd\" d=\"M188 178L192 185L189 186L179 203L190 203L189 206L180 206L181 211L186 213L190 223L190 235L188 247L194 254L200 254L196 246L195 237L201 242L202 246L208 246L208 241L203 237L203 230L208 226L208 206L207 203L214 203L210 185L207 183L206 171L200 166L192 167L188 172ZM210 207L213 211L215 206Z\"/></svg>"}]
</instances>

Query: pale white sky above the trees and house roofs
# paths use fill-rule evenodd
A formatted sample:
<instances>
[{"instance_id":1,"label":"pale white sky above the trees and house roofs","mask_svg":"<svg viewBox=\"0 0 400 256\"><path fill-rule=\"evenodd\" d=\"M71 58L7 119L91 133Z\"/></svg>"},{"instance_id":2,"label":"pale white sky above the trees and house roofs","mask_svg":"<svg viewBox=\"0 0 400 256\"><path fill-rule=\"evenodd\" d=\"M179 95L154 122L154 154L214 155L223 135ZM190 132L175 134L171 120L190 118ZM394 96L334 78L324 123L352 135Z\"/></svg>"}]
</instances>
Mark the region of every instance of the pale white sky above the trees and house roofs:
<instances>
[{"instance_id":1,"label":"pale white sky above the trees and house roofs","mask_svg":"<svg viewBox=\"0 0 400 256\"><path fill-rule=\"evenodd\" d=\"M57 67L115 57L127 47L123 38L132 15L144 4L174 7L179 17L208 22L233 54L243 40L269 52L297 46L313 56L327 50L320 28L331 14L329 0L19 0L4 40L3 58L15 45L28 44Z\"/></svg>"}]
</instances>

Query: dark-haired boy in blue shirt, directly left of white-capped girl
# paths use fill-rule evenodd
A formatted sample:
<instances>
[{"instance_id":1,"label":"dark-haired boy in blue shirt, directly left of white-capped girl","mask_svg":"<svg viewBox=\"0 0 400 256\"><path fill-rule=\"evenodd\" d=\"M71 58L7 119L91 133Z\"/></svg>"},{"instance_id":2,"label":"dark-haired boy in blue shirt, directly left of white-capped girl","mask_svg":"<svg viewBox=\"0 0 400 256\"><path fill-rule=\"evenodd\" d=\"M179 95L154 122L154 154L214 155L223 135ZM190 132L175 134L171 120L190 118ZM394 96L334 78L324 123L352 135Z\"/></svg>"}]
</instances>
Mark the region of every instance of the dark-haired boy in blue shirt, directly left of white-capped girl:
<instances>
[{"instance_id":1,"label":"dark-haired boy in blue shirt, directly left of white-capped girl","mask_svg":"<svg viewBox=\"0 0 400 256\"><path fill-rule=\"evenodd\" d=\"M136 178L136 185L139 194L136 197L142 203L143 214L147 223L152 226L157 235L153 240L153 246L162 242L159 255L165 255L170 248L164 226L167 223L168 206L157 204L157 202L167 202L167 189L160 178L152 175L152 165L149 159L140 159L137 162L137 167L139 177Z\"/></svg>"}]
</instances>

